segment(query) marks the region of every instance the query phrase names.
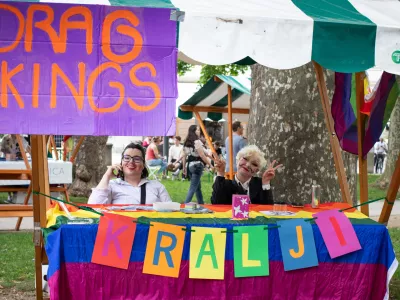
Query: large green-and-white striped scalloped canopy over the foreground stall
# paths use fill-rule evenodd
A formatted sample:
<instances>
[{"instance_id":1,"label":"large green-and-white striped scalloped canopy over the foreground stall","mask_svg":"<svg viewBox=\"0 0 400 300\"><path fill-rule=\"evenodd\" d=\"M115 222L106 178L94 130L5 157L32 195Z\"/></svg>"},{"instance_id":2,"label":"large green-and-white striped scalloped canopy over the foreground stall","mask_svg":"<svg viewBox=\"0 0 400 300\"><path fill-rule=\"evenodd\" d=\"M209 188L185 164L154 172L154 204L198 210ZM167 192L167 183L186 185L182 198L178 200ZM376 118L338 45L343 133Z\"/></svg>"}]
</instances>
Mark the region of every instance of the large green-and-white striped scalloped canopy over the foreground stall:
<instances>
[{"instance_id":1,"label":"large green-and-white striped scalloped canopy over the foreground stall","mask_svg":"<svg viewBox=\"0 0 400 300\"><path fill-rule=\"evenodd\" d=\"M314 60L338 72L374 66L400 74L398 0L33 0L171 8L180 58L291 69Z\"/></svg>"}]
</instances>

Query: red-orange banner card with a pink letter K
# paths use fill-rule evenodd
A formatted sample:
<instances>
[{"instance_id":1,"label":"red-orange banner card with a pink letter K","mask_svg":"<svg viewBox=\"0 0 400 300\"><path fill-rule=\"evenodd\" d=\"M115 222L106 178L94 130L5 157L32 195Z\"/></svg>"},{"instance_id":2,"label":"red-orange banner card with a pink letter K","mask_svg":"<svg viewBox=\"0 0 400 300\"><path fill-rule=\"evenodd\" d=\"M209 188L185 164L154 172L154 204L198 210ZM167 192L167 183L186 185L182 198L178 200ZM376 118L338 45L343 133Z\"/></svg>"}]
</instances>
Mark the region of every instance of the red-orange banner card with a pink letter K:
<instances>
[{"instance_id":1,"label":"red-orange banner card with a pink letter K","mask_svg":"<svg viewBox=\"0 0 400 300\"><path fill-rule=\"evenodd\" d=\"M135 232L132 218L104 213L100 217L92 263L128 269Z\"/></svg>"}]
</instances>

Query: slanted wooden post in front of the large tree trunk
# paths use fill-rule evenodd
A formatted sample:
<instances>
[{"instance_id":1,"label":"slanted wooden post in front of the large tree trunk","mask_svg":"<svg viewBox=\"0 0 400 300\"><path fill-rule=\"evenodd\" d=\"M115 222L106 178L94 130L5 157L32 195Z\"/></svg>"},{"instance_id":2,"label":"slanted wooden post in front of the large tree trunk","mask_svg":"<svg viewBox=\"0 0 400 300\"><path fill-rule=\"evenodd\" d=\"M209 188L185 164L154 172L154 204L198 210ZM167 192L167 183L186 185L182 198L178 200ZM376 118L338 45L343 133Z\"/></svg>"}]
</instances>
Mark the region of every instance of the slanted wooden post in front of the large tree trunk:
<instances>
[{"instance_id":1,"label":"slanted wooden post in front of the large tree trunk","mask_svg":"<svg viewBox=\"0 0 400 300\"><path fill-rule=\"evenodd\" d=\"M349 205L353 205L353 201L350 196L349 183L347 182L347 176L344 170L343 157L340 151L339 141L335 135L335 127L332 118L328 92L326 89L324 72L322 67L318 63L313 61L313 64L315 69L315 75L317 77L318 90L321 96L322 108L324 110L325 124L326 128L328 129L329 141L331 143L333 160L335 162L336 174L338 176L340 191L342 192L342 197L343 197L342 200L345 203L347 202Z\"/></svg>"}]
</instances>

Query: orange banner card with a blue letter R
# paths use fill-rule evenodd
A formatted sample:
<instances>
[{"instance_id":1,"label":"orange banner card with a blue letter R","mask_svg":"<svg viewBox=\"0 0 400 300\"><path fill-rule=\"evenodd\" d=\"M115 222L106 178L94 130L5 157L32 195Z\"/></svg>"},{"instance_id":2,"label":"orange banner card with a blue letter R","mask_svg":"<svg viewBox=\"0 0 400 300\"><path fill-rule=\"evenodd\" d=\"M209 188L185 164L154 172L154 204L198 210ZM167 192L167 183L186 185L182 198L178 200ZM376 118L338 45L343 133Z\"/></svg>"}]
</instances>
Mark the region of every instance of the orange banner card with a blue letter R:
<instances>
[{"instance_id":1,"label":"orange banner card with a blue letter R","mask_svg":"<svg viewBox=\"0 0 400 300\"><path fill-rule=\"evenodd\" d=\"M183 226L151 222L143 273L178 278L182 261Z\"/></svg>"}]
</instances>

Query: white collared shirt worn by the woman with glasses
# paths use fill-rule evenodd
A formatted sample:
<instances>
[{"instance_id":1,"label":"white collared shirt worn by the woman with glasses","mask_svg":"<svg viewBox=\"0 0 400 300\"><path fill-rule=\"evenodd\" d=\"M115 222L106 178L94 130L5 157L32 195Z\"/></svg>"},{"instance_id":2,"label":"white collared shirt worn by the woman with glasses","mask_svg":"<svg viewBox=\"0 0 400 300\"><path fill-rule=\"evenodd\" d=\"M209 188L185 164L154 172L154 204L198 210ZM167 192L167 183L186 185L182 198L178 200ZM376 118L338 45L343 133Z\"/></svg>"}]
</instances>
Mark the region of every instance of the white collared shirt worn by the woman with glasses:
<instances>
[{"instance_id":1,"label":"white collared shirt worn by the woman with glasses","mask_svg":"<svg viewBox=\"0 0 400 300\"><path fill-rule=\"evenodd\" d=\"M156 180L142 179L132 186L120 178L110 180L107 189L93 188L88 204L140 204L141 186L146 183L146 204L171 202L164 185Z\"/></svg>"}]
</instances>

